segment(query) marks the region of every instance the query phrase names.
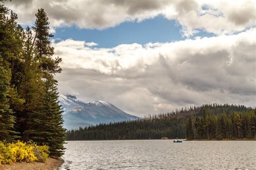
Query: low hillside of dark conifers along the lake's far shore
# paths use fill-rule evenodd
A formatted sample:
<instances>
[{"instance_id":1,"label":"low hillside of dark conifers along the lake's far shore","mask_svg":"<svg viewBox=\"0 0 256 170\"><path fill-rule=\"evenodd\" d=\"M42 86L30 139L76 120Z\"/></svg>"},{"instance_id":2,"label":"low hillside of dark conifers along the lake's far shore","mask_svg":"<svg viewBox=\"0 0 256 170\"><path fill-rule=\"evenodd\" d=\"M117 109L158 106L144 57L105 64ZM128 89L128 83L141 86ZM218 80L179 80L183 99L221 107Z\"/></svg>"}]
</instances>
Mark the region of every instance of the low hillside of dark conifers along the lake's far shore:
<instances>
[{"instance_id":1,"label":"low hillside of dark conifers along the lake's far shore","mask_svg":"<svg viewBox=\"0 0 256 170\"><path fill-rule=\"evenodd\" d=\"M255 108L206 104L124 122L69 130L68 140L255 138Z\"/></svg>"}]
</instances>

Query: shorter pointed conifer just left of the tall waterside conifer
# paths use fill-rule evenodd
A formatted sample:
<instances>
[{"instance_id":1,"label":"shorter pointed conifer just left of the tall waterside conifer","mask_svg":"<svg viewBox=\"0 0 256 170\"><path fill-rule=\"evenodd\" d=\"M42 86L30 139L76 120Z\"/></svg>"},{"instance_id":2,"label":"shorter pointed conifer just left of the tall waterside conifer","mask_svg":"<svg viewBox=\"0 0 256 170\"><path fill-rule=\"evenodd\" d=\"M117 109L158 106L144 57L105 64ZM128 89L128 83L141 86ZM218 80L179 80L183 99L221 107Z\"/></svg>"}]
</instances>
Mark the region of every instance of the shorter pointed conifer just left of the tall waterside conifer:
<instances>
[{"instance_id":1,"label":"shorter pointed conifer just left of the tall waterside conifer","mask_svg":"<svg viewBox=\"0 0 256 170\"><path fill-rule=\"evenodd\" d=\"M21 88L19 89L21 96L25 99L23 110L17 114L17 128L21 132L23 140L35 140L38 136L37 127L41 127L42 116L42 93L43 81L39 62L33 52L32 32L27 27L26 41L23 52L23 76Z\"/></svg>"}]
</instances>

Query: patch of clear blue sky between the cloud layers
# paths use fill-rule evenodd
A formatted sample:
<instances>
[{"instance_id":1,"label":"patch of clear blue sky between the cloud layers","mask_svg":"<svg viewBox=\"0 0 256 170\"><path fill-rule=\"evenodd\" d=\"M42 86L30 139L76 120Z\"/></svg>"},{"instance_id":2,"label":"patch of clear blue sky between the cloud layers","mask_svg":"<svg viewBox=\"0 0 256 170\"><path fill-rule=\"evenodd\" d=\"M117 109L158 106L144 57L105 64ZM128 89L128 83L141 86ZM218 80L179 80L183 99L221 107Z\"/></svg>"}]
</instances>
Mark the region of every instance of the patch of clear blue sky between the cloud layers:
<instances>
[{"instance_id":1,"label":"patch of clear blue sky between the cloud layers","mask_svg":"<svg viewBox=\"0 0 256 170\"><path fill-rule=\"evenodd\" d=\"M76 26L58 27L54 34L57 42L65 39L96 42L97 47L111 48L120 44L146 44L149 42L171 42L186 39L180 33L181 26L176 20L163 16L147 19L143 22L124 22L116 27L104 30L78 29ZM214 34L200 31L194 37L212 37Z\"/></svg>"}]
</instances>

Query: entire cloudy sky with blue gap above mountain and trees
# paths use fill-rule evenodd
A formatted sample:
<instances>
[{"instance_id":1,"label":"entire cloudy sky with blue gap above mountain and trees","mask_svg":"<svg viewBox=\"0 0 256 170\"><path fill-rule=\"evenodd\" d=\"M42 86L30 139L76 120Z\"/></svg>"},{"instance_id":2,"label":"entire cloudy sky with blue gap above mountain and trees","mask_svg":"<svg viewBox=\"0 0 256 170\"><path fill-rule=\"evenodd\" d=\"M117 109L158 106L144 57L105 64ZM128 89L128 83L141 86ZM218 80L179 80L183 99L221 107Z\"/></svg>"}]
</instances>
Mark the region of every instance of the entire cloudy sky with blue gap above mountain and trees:
<instances>
[{"instance_id":1,"label":"entire cloudy sky with blue gap above mountain and trees","mask_svg":"<svg viewBox=\"0 0 256 170\"><path fill-rule=\"evenodd\" d=\"M205 103L255 106L256 3L12 0L18 22L44 8L63 59L59 92L143 116Z\"/></svg>"}]
</instances>

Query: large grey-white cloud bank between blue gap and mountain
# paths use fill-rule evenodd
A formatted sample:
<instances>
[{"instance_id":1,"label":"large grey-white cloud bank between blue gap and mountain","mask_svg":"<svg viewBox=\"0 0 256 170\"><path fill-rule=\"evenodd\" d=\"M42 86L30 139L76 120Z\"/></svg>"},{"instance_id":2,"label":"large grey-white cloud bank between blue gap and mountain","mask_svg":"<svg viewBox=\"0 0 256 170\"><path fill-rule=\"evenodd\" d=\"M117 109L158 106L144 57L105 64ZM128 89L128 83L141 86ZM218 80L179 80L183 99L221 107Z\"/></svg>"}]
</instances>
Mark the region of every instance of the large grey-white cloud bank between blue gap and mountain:
<instances>
[{"instance_id":1,"label":"large grey-white cloud bank between blue gap and mountain","mask_svg":"<svg viewBox=\"0 0 256 170\"><path fill-rule=\"evenodd\" d=\"M60 93L105 100L137 115L204 103L255 105L256 29L176 42L86 46L54 42Z\"/></svg>"}]
</instances>

